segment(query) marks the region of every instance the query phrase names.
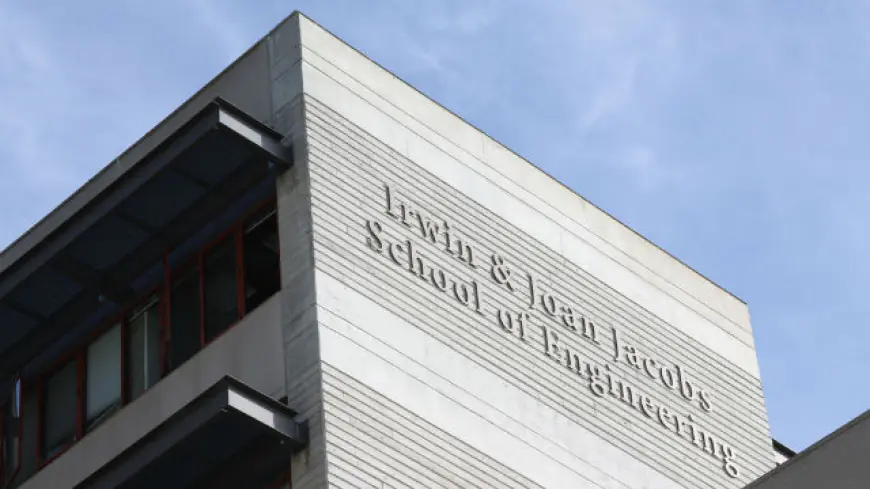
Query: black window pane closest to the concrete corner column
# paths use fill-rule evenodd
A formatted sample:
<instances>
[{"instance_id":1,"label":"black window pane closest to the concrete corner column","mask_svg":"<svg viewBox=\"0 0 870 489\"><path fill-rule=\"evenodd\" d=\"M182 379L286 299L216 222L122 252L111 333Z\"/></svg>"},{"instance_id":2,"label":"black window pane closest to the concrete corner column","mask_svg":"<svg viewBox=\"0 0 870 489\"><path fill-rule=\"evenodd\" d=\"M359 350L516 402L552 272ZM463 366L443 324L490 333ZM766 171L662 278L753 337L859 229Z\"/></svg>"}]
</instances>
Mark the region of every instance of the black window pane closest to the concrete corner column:
<instances>
[{"instance_id":1,"label":"black window pane closest to the concrete corner column","mask_svg":"<svg viewBox=\"0 0 870 489\"><path fill-rule=\"evenodd\" d=\"M245 223L245 312L250 312L281 289L278 254L278 216L273 207Z\"/></svg>"}]
</instances>

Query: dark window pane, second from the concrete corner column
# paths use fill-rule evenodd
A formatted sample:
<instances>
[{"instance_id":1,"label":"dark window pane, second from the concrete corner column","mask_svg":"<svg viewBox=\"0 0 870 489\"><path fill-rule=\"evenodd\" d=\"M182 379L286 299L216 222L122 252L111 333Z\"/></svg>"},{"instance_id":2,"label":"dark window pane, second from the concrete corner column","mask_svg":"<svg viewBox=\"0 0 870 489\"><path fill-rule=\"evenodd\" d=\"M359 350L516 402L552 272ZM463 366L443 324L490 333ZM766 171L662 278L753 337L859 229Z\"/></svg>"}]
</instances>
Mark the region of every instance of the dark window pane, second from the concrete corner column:
<instances>
[{"instance_id":1,"label":"dark window pane, second from the concrete corner column","mask_svg":"<svg viewBox=\"0 0 870 489\"><path fill-rule=\"evenodd\" d=\"M238 319L235 239L209 251L203 265L205 340L211 341Z\"/></svg>"}]
</instances>

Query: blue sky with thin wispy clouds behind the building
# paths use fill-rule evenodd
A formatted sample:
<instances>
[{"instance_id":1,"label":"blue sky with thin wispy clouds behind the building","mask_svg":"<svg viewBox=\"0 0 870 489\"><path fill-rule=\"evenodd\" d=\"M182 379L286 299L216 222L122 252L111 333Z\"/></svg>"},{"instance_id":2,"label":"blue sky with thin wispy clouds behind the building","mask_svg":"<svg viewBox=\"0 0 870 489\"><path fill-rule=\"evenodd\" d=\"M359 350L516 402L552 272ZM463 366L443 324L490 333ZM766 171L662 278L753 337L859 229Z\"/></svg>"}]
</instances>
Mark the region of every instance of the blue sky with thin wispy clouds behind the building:
<instances>
[{"instance_id":1,"label":"blue sky with thin wispy clouds behind the building","mask_svg":"<svg viewBox=\"0 0 870 489\"><path fill-rule=\"evenodd\" d=\"M870 407L870 3L83 3L0 0L2 246L298 9L746 300L775 437Z\"/></svg>"}]
</instances>

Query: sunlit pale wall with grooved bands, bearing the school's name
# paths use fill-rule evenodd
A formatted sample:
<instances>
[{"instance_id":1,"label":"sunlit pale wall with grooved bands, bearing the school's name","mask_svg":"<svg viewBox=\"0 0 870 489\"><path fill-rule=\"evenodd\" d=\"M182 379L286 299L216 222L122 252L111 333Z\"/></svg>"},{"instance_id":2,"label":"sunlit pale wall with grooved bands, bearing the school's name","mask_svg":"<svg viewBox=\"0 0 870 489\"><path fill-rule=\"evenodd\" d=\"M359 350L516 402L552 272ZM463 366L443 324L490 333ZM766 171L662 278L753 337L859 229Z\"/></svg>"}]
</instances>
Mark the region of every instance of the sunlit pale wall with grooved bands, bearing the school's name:
<instances>
[{"instance_id":1,"label":"sunlit pale wall with grooved bands, bearing the school's name","mask_svg":"<svg viewBox=\"0 0 870 489\"><path fill-rule=\"evenodd\" d=\"M282 32L329 487L736 488L772 467L742 302L304 17Z\"/></svg>"}]
</instances>

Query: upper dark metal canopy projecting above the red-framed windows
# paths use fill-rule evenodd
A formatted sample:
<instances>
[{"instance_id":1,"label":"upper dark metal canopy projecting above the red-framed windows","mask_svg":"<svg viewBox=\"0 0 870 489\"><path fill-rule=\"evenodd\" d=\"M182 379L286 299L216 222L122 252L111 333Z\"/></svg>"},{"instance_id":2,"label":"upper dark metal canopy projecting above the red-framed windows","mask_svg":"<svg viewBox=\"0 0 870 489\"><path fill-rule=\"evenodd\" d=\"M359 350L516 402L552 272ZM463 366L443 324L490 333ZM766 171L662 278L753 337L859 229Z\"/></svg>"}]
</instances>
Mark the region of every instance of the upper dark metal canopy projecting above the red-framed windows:
<instances>
[{"instance_id":1,"label":"upper dark metal canopy projecting above the red-framed windows","mask_svg":"<svg viewBox=\"0 0 870 489\"><path fill-rule=\"evenodd\" d=\"M3 264L0 384L95 311L131 300L141 292L137 279L154 270L167 248L291 164L280 134L223 100L208 104L23 256Z\"/></svg>"}]
</instances>

